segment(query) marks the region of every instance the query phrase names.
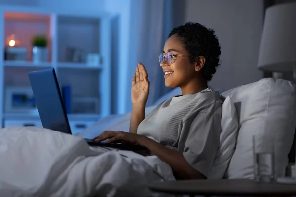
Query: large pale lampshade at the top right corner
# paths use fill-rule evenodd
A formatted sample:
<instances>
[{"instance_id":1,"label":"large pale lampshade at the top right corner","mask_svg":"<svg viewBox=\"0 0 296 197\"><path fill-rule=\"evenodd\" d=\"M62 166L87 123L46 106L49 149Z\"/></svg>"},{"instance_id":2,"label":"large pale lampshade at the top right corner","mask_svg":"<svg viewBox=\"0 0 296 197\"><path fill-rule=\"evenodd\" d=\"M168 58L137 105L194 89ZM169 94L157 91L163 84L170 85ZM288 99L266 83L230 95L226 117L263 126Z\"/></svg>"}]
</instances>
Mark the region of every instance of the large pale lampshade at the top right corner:
<instances>
[{"instance_id":1,"label":"large pale lampshade at the top right corner","mask_svg":"<svg viewBox=\"0 0 296 197\"><path fill-rule=\"evenodd\" d=\"M267 8L258 68L265 71L296 71L296 3Z\"/></svg>"}]
</instances>

